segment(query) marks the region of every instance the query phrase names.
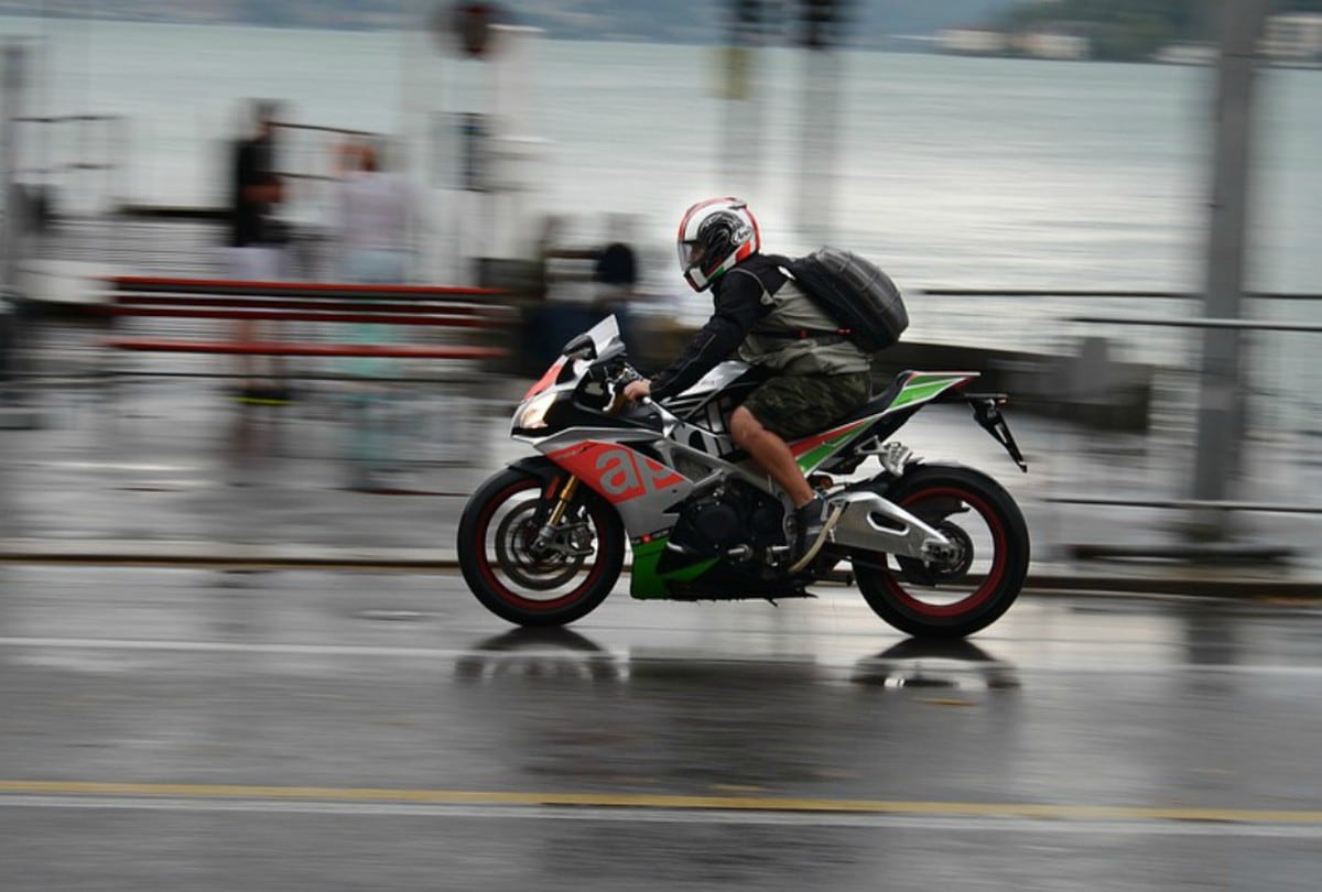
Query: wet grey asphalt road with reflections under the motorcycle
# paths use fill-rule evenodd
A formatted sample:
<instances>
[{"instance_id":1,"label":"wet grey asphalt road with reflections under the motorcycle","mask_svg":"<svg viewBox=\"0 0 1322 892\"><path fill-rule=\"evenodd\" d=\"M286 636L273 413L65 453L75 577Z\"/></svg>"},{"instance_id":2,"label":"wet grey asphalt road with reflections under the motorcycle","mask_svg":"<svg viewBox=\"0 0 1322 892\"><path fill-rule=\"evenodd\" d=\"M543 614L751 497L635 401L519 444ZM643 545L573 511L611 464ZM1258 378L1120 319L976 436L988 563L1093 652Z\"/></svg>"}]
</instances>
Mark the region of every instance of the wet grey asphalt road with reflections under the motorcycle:
<instances>
[{"instance_id":1,"label":"wet grey asphalt road with reflections under the motorcycle","mask_svg":"<svg viewBox=\"0 0 1322 892\"><path fill-rule=\"evenodd\" d=\"M0 567L0 888L1322 888L1322 611Z\"/></svg>"}]
</instances>

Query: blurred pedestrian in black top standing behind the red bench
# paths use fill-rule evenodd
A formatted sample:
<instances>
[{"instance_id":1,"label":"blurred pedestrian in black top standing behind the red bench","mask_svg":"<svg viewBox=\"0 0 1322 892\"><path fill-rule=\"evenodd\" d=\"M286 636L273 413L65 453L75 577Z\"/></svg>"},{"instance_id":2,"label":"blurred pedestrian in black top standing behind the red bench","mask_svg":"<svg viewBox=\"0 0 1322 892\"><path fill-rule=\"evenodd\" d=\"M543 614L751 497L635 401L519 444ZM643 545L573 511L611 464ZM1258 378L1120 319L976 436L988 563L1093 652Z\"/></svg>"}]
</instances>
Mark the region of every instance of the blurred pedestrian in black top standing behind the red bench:
<instances>
[{"instance_id":1,"label":"blurred pedestrian in black top standing behind the red bench","mask_svg":"<svg viewBox=\"0 0 1322 892\"><path fill-rule=\"evenodd\" d=\"M230 275L243 281L276 281L284 278L286 231L275 218L275 209L284 201L284 185L275 170L275 120L279 106L254 100L250 107L249 132L233 148L230 168ZM239 320L235 340L254 344L274 336L274 322L259 325ZM264 374L263 374L264 369ZM278 357L239 354L243 385L238 396L253 403L288 400Z\"/></svg>"}]
</instances>

